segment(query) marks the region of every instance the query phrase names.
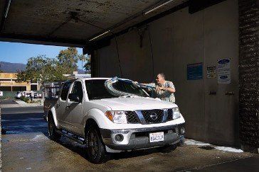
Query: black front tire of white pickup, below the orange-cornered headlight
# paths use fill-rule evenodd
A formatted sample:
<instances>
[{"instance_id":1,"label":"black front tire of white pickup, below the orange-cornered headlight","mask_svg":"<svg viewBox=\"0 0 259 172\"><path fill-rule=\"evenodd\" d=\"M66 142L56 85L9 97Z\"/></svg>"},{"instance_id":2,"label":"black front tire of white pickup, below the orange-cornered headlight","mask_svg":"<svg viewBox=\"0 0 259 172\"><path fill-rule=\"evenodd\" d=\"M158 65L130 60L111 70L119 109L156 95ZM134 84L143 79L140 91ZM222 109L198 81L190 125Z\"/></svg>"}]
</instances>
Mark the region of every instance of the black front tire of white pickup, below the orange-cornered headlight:
<instances>
[{"instance_id":1,"label":"black front tire of white pickup, below the orange-cornered headlight","mask_svg":"<svg viewBox=\"0 0 259 172\"><path fill-rule=\"evenodd\" d=\"M87 133L87 155L93 164L102 164L110 159L110 154L105 150L105 144L102 142L100 130L96 125L90 125Z\"/></svg>"}]
</instances>

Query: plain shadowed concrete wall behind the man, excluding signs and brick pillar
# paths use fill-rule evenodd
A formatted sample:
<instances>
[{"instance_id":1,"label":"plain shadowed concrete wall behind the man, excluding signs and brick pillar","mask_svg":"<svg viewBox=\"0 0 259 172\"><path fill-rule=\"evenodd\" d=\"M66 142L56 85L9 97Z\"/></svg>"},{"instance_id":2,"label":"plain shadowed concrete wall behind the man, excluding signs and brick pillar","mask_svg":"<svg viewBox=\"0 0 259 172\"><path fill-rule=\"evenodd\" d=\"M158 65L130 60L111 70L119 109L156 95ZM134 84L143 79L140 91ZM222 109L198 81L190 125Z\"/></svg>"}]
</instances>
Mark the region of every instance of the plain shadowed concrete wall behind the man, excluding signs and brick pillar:
<instances>
[{"instance_id":1,"label":"plain shadowed concrete wall behind the man, excluding signs and brick pillar","mask_svg":"<svg viewBox=\"0 0 259 172\"><path fill-rule=\"evenodd\" d=\"M122 77L140 82L151 82L164 72L176 86L186 137L238 145L238 1L223 1L194 14L184 8L149 23L142 47L139 33L132 30L117 37L119 53L115 39L97 50L100 76L120 76L120 65ZM222 58L231 58L231 84L206 79L206 67L217 66ZM187 81L187 64L199 62L203 79ZM226 95L228 91L234 95Z\"/></svg>"}]
</instances>

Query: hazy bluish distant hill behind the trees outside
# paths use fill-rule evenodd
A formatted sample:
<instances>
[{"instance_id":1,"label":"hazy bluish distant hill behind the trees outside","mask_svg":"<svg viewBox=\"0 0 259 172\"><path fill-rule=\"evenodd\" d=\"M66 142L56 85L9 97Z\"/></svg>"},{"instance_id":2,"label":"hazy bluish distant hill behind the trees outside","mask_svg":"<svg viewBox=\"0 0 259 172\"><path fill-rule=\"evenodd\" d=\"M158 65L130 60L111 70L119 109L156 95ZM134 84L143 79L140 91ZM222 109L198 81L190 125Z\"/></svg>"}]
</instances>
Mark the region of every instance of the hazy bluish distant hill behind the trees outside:
<instances>
[{"instance_id":1,"label":"hazy bluish distant hill behind the trees outside","mask_svg":"<svg viewBox=\"0 0 259 172\"><path fill-rule=\"evenodd\" d=\"M22 63L9 63L9 62L0 62L1 71L6 73L16 73L17 69L23 71L26 69L26 64ZM78 69L78 74L85 74L85 71Z\"/></svg>"}]
</instances>

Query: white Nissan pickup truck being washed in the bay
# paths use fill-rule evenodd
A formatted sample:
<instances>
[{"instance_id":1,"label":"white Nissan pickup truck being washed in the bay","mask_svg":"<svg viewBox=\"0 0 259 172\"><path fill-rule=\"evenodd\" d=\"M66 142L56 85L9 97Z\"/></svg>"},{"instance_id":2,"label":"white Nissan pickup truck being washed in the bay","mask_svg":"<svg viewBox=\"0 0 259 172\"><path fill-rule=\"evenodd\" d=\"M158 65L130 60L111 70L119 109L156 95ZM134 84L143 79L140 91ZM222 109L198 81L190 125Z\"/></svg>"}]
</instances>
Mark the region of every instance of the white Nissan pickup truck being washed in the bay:
<instances>
[{"instance_id":1,"label":"white Nissan pickup truck being washed in the bay","mask_svg":"<svg viewBox=\"0 0 259 172\"><path fill-rule=\"evenodd\" d=\"M152 147L169 150L184 144L185 121L176 104L150 98L130 80L113 84L130 96L115 96L107 91L105 81L65 81L58 98L46 98L44 115L51 139L65 135L86 144L88 159L95 164L107 161L110 153Z\"/></svg>"}]
</instances>

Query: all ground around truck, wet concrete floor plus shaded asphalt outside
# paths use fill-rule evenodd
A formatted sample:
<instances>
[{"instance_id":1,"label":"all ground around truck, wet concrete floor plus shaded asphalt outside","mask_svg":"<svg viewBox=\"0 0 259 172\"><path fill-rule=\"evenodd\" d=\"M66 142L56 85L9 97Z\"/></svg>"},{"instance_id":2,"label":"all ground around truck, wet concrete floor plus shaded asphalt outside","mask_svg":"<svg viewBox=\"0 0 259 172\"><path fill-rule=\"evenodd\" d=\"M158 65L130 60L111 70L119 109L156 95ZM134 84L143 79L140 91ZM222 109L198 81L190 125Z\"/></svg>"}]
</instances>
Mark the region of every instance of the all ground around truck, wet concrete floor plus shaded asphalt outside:
<instances>
[{"instance_id":1,"label":"all ground around truck, wet concrete floor plus shaded asphalt outside","mask_svg":"<svg viewBox=\"0 0 259 172\"><path fill-rule=\"evenodd\" d=\"M9 105L6 105L6 104ZM11 108L11 105L14 107ZM171 153L157 149L114 154L105 164L95 165L85 147L62 137L48 139L42 107L1 105L3 171L257 171L258 154L228 152L201 145L184 145ZM9 108L4 108L9 107ZM187 131L188 132L188 131Z\"/></svg>"}]
</instances>

